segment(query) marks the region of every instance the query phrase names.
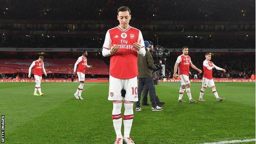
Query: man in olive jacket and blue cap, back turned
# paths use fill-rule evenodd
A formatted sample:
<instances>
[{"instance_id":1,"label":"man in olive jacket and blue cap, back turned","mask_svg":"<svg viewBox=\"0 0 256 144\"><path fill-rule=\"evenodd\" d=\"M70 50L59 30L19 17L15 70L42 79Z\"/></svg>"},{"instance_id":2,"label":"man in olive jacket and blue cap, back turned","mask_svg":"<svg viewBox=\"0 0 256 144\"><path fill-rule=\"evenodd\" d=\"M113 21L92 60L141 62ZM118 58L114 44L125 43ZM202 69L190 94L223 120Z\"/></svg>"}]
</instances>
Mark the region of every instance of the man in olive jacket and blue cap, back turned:
<instances>
[{"instance_id":1,"label":"man in olive jacket and blue cap, back turned","mask_svg":"<svg viewBox=\"0 0 256 144\"><path fill-rule=\"evenodd\" d=\"M136 102L135 111L141 111L142 108L139 105L141 93L143 90L143 86L146 85L147 89L149 89L149 97L151 101L152 111L160 111L164 110L164 108L159 107L155 102L155 87L154 82L152 78L152 69L154 68L154 61L151 53L149 52L149 42L144 41L145 49L146 49L146 55L142 57L141 55L138 55L138 101Z\"/></svg>"}]
</instances>

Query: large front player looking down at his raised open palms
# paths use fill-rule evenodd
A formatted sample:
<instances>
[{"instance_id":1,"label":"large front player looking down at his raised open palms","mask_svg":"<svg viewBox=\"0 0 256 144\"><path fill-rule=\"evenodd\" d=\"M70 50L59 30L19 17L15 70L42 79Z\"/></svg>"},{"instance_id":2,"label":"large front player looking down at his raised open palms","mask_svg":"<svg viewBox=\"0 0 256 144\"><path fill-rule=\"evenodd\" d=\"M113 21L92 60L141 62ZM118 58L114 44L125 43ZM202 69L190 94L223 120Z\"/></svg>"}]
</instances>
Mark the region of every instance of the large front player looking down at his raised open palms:
<instances>
[{"instance_id":1,"label":"large front player looking down at his raised open palms","mask_svg":"<svg viewBox=\"0 0 256 144\"><path fill-rule=\"evenodd\" d=\"M112 119L117 139L114 144L134 144L130 138L133 123L133 102L138 101L137 88L137 53L146 54L144 40L140 30L131 27L130 9L119 7L117 10L119 24L107 31L103 44L102 54L110 56L110 84L108 100L113 101ZM126 90L125 97L121 90ZM124 135L121 134L122 115L121 107L124 101Z\"/></svg>"}]
</instances>

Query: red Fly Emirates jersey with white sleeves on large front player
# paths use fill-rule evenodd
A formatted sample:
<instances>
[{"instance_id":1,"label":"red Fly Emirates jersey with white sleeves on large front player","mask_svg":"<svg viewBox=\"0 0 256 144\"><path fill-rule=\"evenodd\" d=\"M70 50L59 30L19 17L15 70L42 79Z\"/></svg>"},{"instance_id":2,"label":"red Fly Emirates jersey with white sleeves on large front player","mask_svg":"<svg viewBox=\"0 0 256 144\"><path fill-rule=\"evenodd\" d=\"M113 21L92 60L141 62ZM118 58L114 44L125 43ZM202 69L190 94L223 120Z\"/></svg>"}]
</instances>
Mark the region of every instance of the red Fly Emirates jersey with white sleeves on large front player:
<instances>
[{"instance_id":1,"label":"red Fly Emirates jersey with white sleeves on large front player","mask_svg":"<svg viewBox=\"0 0 256 144\"><path fill-rule=\"evenodd\" d=\"M110 56L110 75L119 79L135 78L138 75L137 50L133 48L133 43L139 42L144 48L144 40L140 30L129 26L122 30L119 26L107 31L103 48L110 49L119 45L119 50Z\"/></svg>"}]
</instances>

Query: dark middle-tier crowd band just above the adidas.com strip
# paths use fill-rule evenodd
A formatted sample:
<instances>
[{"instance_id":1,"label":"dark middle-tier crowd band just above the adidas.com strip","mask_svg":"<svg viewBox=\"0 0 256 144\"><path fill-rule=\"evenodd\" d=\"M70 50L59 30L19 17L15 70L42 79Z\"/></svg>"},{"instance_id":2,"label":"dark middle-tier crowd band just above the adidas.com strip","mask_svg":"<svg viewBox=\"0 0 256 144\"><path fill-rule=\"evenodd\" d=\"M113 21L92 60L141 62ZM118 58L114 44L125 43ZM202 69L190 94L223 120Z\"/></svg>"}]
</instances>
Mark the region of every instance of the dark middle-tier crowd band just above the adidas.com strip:
<instances>
[{"instance_id":1,"label":"dark middle-tier crowd band just above the adidas.com strip","mask_svg":"<svg viewBox=\"0 0 256 144\"><path fill-rule=\"evenodd\" d=\"M153 38L152 38L153 37ZM165 48L255 48L255 36L217 37L174 37L174 36L144 36L153 43ZM101 48L104 36L11 36L0 37L0 47L16 48Z\"/></svg>"}]
</instances>

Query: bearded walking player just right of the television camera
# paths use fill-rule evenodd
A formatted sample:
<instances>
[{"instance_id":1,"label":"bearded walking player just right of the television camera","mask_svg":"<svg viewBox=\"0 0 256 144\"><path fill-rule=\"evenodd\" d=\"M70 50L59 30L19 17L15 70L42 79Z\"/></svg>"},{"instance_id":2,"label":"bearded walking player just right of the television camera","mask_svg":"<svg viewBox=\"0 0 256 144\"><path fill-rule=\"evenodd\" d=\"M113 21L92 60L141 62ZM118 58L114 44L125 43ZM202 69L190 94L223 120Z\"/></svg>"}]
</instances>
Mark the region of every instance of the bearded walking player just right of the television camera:
<instances>
[{"instance_id":1,"label":"bearded walking player just right of the television camera","mask_svg":"<svg viewBox=\"0 0 256 144\"><path fill-rule=\"evenodd\" d=\"M190 80L189 80L189 68L190 66L197 70L199 73L202 71L198 69L194 64L191 62L190 56L188 56L188 47L184 46L182 48L183 54L178 56L177 61L174 65L174 74L173 77L176 78L176 72L177 72L177 67L179 69L179 76L181 78L181 88L180 88L180 95L178 98L178 102L185 102L182 100L183 92L185 91L186 87L186 92L187 96L189 98L190 103L195 103L196 101L192 99L191 92L190 92Z\"/></svg>"}]
</instances>

